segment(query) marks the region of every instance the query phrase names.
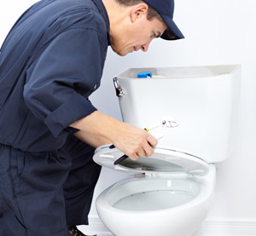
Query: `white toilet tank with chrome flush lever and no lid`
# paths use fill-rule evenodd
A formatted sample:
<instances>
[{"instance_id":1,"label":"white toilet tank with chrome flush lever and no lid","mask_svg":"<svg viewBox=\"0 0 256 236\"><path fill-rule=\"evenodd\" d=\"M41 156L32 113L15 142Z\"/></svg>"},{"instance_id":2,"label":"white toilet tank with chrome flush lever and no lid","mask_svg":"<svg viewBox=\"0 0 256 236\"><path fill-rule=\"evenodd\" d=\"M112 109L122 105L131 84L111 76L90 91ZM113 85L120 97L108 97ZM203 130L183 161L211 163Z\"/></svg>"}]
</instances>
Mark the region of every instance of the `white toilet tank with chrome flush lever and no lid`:
<instances>
[{"instance_id":1,"label":"white toilet tank with chrome flush lever and no lid","mask_svg":"<svg viewBox=\"0 0 256 236\"><path fill-rule=\"evenodd\" d=\"M139 72L152 78L137 78ZM166 128L157 147L217 163L230 156L240 77L239 65L152 67L128 69L114 81L125 122L145 128L172 118L178 125Z\"/></svg>"}]
</instances>

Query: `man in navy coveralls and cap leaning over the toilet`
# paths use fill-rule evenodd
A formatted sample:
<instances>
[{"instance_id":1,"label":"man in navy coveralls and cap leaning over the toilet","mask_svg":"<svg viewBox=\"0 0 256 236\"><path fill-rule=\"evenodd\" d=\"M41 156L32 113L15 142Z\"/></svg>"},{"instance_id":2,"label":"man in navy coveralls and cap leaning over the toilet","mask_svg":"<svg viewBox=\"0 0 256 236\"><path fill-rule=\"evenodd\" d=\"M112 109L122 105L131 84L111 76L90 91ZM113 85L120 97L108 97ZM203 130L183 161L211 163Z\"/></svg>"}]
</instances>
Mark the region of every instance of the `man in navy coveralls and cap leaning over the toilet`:
<instances>
[{"instance_id":1,"label":"man in navy coveralls and cap leaning over the toilet","mask_svg":"<svg viewBox=\"0 0 256 236\"><path fill-rule=\"evenodd\" d=\"M95 147L153 154L152 135L88 97L108 45L127 55L183 38L173 9L173 0L42 0L20 16L0 55L0 235L84 235L75 226L88 224Z\"/></svg>"}]
</instances>

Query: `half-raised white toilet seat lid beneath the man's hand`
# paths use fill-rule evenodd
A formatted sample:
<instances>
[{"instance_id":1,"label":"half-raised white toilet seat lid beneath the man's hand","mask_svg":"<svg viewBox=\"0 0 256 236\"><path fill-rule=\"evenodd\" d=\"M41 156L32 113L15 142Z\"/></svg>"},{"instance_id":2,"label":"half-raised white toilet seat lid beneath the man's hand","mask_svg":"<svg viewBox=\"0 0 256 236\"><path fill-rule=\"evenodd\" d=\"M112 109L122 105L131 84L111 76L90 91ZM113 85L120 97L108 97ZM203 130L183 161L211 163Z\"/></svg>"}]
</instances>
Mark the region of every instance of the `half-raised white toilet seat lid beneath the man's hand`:
<instances>
[{"instance_id":1,"label":"half-raised white toilet seat lid beneath the man's hand","mask_svg":"<svg viewBox=\"0 0 256 236\"><path fill-rule=\"evenodd\" d=\"M93 156L97 164L113 170L145 173L148 175L172 175L189 173L205 176L209 171L209 164L201 158L188 153L178 152L166 147L154 147L154 154L148 158L138 158L137 161L126 158L119 164L113 164L124 153L117 148L110 149L110 145L98 147Z\"/></svg>"}]
</instances>

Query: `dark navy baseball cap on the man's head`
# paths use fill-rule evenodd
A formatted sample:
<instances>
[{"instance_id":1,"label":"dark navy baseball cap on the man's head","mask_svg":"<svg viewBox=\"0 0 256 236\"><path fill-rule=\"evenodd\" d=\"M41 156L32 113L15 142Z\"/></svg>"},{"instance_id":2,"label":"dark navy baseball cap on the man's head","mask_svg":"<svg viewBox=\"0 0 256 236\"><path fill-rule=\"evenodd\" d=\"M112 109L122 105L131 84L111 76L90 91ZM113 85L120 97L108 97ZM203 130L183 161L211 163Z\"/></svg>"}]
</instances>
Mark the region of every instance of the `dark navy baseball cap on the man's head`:
<instances>
[{"instance_id":1,"label":"dark navy baseball cap on the man's head","mask_svg":"<svg viewBox=\"0 0 256 236\"><path fill-rule=\"evenodd\" d=\"M173 19L174 0L143 0L152 8L158 11L160 16L165 20L167 30L161 35L166 40L176 40L184 38L183 33L178 29Z\"/></svg>"}]
</instances>

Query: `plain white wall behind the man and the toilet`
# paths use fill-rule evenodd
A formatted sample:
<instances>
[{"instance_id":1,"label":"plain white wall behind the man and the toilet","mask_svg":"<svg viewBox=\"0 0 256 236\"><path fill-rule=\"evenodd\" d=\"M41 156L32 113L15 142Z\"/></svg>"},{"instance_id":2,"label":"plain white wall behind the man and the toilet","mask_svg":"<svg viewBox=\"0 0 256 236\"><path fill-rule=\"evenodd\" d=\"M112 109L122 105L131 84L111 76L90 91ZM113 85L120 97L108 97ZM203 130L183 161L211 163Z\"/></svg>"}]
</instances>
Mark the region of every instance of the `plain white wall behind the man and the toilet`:
<instances>
[{"instance_id":1,"label":"plain white wall behind the man and the toilet","mask_svg":"<svg viewBox=\"0 0 256 236\"><path fill-rule=\"evenodd\" d=\"M32 0L0 3L0 43ZM186 39L155 40L148 53L119 57L109 49L102 86L91 101L121 119L112 78L128 67L241 64L241 114L232 158L218 164L217 193L208 219L256 222L256 1L176 0L175 21ZM96 194L124 175L102 170ZM93 206L91 217L96 216Z\"/></svg>"}]
</instances>

